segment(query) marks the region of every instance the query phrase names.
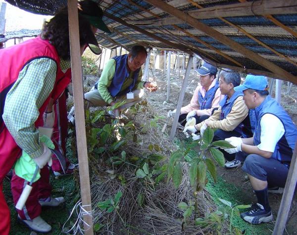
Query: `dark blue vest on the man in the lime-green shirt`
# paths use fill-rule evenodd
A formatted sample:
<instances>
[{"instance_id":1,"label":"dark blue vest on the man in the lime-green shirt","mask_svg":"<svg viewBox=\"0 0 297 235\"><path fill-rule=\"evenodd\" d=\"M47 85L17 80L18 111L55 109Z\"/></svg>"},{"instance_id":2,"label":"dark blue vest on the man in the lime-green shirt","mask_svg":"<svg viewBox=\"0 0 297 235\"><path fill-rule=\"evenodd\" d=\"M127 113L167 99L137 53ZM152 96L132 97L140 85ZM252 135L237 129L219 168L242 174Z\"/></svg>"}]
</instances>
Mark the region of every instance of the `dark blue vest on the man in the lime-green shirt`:
<instances>
[{"instance_id":1,"label":"dark blue vest on the man in the lime-green shirt","mask_svg":"<svg viewBox=\"0 0 297 235\"><path fill-rule=\"evenodd\" d=\"M121 91L122 86L126 78L130 76L127 64L128 54L114 56L112 59L115 60L115 72L112 78L110 86L107 88L108 92L112 97L115 97L118 94L127 94L128 92L132 91L135 83L138 79L139 72L141 68L134 71L133 82L132 84L125 90ZM131 71L130 71L131 72ZM98 88L99 81L95 84L95 88Z\"/></svg>"}]
</instances>

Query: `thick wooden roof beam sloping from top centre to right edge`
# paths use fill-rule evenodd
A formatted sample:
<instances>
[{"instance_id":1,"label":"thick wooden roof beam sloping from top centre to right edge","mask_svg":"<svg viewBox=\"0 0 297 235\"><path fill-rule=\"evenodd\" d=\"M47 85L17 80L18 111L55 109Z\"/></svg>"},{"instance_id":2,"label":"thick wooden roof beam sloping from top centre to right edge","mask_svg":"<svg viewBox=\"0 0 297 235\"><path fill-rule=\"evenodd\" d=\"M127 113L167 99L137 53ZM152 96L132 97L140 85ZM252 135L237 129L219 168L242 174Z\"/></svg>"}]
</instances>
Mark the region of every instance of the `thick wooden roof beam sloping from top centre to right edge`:
<instances>
[{"instance_id":1,"label":"thick wooden roof beam sloping from top centre to right edge","mask_svg":"<svg viewBox=\"0 0 297 235\"><path fill-rule=\"evenodd\" d=\"M229 39L227 36L219 33L218 31L212 29L211 27L199 22L197 19L193 18L192 16L184 13L183 11L180 11L176 9L175 7L172 7L168 3L163 2L162 0L145 0L146 2L161 8L163 11L176 16L179 19L184 20L188 24L190 24L192 27L204 32L206 35L216 39L217 41L221 42L224 45L229 46L230 48L234 49L235 51L240 52L245 57L249 58L250 60L256 62L257 64L263 66L264 68L272 71L273 73L284 77L287 79L287 81L290 82L296 82L297 77L290 74L286 70L282 69L281 67L275 65L274 63L266 60L262 56L254 53L253 51L247 49L246 47L243 47L241 44Z\"/></svg>"}]
</instances>

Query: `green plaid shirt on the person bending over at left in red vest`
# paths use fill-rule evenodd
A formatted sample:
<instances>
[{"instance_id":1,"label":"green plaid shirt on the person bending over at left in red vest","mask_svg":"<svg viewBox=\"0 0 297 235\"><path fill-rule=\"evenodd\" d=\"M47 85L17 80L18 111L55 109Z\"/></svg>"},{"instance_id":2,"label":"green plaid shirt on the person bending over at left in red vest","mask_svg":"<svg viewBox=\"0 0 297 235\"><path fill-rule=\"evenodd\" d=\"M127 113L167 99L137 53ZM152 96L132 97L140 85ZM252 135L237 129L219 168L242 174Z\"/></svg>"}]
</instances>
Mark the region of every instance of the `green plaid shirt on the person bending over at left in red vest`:
<instances>
[{"instance_id":1,"label":"green plaid shirt on the person bending over at left in red vest","mask_svg":"<svg viewBox=\"0 0 297 235\"><path fill-rule=\"evenodd\" d=\"M70 61L61 59L62 71L70 68ZM35 121L39 109L51 93L57 66L49 58L38 58L28 63L6 95L3 121L18 146L32 158L43 153Z\"/></svg>"}]
</instances>

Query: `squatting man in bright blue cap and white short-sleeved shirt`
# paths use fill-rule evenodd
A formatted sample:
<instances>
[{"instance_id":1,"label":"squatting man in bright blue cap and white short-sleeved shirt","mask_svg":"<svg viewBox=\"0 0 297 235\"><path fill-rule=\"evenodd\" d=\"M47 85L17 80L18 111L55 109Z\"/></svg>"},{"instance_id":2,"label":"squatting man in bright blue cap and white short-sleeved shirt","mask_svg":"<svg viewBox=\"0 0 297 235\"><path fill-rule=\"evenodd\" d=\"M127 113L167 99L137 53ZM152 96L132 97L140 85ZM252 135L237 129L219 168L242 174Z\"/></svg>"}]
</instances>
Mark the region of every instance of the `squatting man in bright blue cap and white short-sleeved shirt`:
<instances>
[{"instance_id":1,"label":"squatting man in bright blue cap and white short-sleeved shirt","mask_svg":"<svg viewBox=\"0 0 297 235\"><path fill-rule=\"evenodd\" d=\"M297 140L297 128L283 107L268 94L264 76L247 75L245 83L234 90L244 92L245 103L248 109L254 109L256 119L253 137L226 139L235 146L226 151L246 153L242 169L247 172L257 197L257 203L242 213L241 217L251 224L269 222L273 217L268 201L268 186L285 187ZM243 154L236 154L236 158L240 156Z\"/></svg>"}]
</instances>

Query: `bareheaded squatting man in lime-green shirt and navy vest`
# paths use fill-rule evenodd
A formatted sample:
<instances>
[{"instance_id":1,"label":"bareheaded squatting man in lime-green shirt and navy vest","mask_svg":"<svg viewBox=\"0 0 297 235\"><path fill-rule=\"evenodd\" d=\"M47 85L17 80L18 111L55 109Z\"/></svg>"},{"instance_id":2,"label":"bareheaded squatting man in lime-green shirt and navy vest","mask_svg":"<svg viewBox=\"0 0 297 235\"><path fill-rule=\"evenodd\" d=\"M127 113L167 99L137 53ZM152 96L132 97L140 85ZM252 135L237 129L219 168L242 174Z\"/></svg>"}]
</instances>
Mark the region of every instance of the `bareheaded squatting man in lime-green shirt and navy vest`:
<instances>
[{"instance_id":1,"label":"bareheaded squatting man in lime-green shirt and navy vest","mask_svg":"<svg viewBox=\"0 0 297 235\"><path fill-rule=\"evenodd\" d=\"M85 94L88 101L87 108L94 106L113 106L115 103L126 100L111 116L120 116L121 111L139 102L144 94L143 88L153 92L157 87L154 83L143 82L141 66L146 62L147 50L143 46L134 46L129 54L119 55L107 61L99 81ZM74 114L74 107L68 116Z\"/></svg>"}]
</instances>

